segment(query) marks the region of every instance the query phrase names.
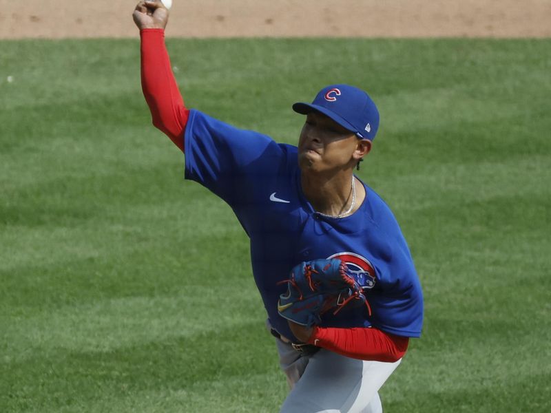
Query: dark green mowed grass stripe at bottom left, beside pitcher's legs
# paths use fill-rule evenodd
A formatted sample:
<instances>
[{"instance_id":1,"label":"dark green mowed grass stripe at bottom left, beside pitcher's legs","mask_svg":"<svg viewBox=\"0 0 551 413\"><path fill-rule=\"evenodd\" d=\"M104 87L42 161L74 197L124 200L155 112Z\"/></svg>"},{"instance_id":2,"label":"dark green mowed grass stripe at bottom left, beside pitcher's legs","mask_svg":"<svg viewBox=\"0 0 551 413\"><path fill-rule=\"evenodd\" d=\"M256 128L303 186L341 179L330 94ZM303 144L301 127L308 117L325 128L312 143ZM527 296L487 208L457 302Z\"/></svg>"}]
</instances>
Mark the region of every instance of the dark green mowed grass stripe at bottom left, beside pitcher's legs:
<instances>
[{"instance_id":1,"label":"dark green mowed grass stripe at bottom left, beside pitcher's legs","mask_svg":"<svg viewBox=\"0 0 551 413\"><path fill-rule=\"evenodd\" d=\"M226 326L191 337L138 340L134 345L107 351L60 349L28 363L8 365L4 371L12 381L3 388L3 394L14 399L18 411L42 408L41 400L21 397L22 389L48 394L54 406L74 408L76 401L78 410L89 411L98 399L124 399L153 391L194 391L194 387L207 390L211 382L225 381L229 386L234 379L251 374L273 375L275 348L267 331L259 335L257 324ZM240 340L253 343L256 352L269 357L258 360L249 348L236 346ZM216 343L216 350L206 343ZM75 400L74 394L79 398ZM208 403L207 394L203 396ZM235 397L235 393L229 396Z\"/></svg>"}]
</instances>

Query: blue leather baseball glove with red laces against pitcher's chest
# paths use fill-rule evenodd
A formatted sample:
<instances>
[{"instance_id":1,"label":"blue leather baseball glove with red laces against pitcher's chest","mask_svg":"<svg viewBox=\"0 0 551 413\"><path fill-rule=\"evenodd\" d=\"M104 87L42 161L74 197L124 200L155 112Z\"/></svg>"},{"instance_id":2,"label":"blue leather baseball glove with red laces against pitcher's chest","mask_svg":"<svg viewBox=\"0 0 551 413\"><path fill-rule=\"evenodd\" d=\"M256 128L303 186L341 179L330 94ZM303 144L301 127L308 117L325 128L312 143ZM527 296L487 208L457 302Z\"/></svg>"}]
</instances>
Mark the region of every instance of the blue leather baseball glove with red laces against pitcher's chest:
<instances>
[{"instance_id":1,"label":"blue leather baseball glove with red laces against pitcher's chest","mask_svg":"<svg viewBox=\"0 0 551 413\"><path fill-rule=\"evenodd\" d=\"M355 277L337 258L301 262L291 270L287 292L280 295L278 313L297 324L320 324L320 316L329 310L337 314L353 300L371 308L362 289L363 278Z\"/></svg>"}]
</instances>

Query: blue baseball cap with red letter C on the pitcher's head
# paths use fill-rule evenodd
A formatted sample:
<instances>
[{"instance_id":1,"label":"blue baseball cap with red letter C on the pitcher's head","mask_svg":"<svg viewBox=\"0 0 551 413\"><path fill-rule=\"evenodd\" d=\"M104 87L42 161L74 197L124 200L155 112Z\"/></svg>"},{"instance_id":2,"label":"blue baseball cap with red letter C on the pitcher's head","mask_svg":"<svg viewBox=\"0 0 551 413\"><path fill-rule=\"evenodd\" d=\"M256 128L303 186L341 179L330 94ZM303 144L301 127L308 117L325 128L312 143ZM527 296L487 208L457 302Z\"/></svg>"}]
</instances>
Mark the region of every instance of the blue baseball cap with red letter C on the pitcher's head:
<instances>
[{"instance_id":1,"label":"blue baseball cap with red letter C on the pitcher's head","mask_svg":"<svg viewBox=\"0 0 551 413\"><path fill-rule=\"evenodd\" d=\"M320 112L360 139L373 140L379 129L377 106L366 92L350 85L324 87L312 103L295 103L293 110L302 115Z\"/></svg>"}]
</instances>

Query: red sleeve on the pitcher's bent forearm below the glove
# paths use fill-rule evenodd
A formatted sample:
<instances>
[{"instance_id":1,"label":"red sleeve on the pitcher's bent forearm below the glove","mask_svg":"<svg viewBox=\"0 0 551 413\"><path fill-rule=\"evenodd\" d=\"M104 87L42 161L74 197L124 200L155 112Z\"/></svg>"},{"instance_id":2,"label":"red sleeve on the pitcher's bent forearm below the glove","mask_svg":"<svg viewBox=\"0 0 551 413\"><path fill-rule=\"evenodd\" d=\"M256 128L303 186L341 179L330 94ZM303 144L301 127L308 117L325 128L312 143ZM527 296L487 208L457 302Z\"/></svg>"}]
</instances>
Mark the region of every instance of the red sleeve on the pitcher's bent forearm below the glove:
<instances>
[{"instance_id":1,"label":"red sleeve on the pitcher's bent forearm below the glove","mask_svg":"<svg viewBox=\"0 0 551 413\"><path fill-rule=\"evenodd\" d=\"M393 363L406 354L409 338L377 328L314 327L308 343L353 359Z\"/></svg>"}]
</instances>

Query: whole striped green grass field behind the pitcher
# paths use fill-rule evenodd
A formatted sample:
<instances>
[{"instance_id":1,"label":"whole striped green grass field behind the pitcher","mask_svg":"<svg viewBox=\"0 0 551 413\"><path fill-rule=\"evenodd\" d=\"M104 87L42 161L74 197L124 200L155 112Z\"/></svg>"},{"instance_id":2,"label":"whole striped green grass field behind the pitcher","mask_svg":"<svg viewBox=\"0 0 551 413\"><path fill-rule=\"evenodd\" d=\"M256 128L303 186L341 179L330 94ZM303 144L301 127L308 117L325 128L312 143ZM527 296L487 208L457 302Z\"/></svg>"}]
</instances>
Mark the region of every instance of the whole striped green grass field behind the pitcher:
<instances>
[{"instance_id":1,"label":"whole striped green grass field behind the pitcher","mask_svg":"<svg viewBox=\"0 0 551 413\"><path fill-rule=\"evenodd\" d=\"M167 44L189 107L280 142L326 84L379 105L359 176L426 308L385 412L550 411L551 40ZM278 411L247 237L183 165L137 40L0 42L0 412Z\"/></svg>"}]
</instances>

